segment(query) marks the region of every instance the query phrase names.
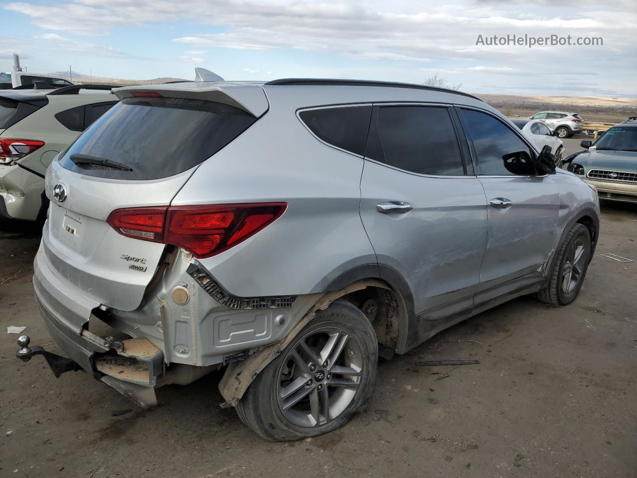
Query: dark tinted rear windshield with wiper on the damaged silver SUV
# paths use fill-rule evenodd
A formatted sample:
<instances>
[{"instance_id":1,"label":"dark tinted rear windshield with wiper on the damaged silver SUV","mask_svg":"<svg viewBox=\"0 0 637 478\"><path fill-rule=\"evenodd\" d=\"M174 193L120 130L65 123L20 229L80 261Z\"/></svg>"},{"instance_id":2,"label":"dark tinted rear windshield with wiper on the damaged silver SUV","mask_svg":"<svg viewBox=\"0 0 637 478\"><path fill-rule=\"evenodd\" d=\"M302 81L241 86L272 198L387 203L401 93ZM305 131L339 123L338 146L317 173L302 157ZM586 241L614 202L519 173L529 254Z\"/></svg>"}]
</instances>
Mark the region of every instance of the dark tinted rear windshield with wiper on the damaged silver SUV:
<instances>
[{"instance_id":1,"label":"dark tinted rear windshield with wiper on the damaged silver SUV","mask_svg":"<svg viewBox=\"0 0 637 478\"><path fill-rule=\"evenodd\" d=\"M125 98L69 147L60 164L84 175L159 179L203 163L257 119L234 106L181 98ZM104 159L82 163L78 156ZM82 156L79 156L80 158ZM126 168L113 168L119 163Z\"/></svg>"}]
</instances>

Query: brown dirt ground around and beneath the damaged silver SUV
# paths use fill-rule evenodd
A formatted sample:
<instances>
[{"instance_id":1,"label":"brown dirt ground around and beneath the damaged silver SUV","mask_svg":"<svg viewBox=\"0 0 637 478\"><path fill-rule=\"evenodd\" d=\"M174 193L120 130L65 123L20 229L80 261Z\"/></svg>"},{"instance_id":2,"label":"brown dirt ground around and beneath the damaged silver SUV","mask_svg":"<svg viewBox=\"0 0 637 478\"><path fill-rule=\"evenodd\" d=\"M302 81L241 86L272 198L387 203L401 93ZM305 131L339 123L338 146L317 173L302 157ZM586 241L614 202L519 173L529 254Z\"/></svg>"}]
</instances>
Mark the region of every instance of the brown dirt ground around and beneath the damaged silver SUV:
<instances>
[{"instance_id":1,"label":"brown dirt ground around and beneath the damaged silver SUV","mask_svg":"<svg viewBox=\"0 0 637 478\"><path fill-rule=\"evenodd\" d=\"M18 361L18 336L6 326L55 346L32 297L38 231L5 225L0 477L636 478L637 262L599 256L637 259L636 231L637 206L603 205L575 303L522 297L381 360L368 412L310 442L278 444L218 408L218 374L159 389L159 407L141 410L84 373L55 379L41 357ZM416 367L417 359L480 365ZM112 416L118 410L132 411Z\"/></svg>"}]
</instances>

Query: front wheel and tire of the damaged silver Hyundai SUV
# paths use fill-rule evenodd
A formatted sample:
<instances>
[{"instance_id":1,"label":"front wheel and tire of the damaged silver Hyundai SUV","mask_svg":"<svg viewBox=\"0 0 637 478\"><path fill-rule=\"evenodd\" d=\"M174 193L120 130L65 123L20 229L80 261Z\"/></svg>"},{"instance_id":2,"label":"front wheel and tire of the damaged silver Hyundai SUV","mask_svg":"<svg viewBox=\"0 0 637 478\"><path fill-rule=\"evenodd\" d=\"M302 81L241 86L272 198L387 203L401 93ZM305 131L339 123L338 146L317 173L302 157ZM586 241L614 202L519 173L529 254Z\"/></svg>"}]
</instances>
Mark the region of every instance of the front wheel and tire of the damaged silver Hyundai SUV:
<instances>
[{"instance_id":1,"label":"front wheel and tire of the damaged silver Hyundai SUV","mask_svg":"<svg viewBox=\"0 0 637 478\"><path fill-rule=\"evenodd\" d=\"M589 262L589 229L577 223L557 251L548 286L536 293L536 298L554 307L574 301L582 288Z\"/></svg>"}]
</instances>

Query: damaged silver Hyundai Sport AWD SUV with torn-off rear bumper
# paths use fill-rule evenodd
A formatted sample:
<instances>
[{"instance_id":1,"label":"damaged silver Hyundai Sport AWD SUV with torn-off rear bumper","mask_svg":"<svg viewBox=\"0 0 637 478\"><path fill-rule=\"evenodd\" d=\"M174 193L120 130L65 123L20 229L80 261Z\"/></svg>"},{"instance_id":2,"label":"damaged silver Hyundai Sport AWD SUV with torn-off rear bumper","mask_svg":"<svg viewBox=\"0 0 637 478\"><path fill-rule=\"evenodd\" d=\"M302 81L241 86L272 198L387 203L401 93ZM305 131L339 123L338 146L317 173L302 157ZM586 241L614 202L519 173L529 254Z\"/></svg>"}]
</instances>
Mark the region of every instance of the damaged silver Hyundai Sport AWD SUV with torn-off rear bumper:
<instances>
[{"instance_id":1,"label":"damaged silver Hyundai Sport AWD SUV with torn-off rear bumper","mask_svg":"<svg viewBox=\"0 0 637 478\"><path fill-rule=\"evenodd\" d=\"M25 336L17 355L58 376L149 407L223 368L223 407L296 440L368 406L379 355L582 286L594 188L473 96L295 79L115 94L47 172L33 283L68 359Z\"/></svg>"}]
</instances>

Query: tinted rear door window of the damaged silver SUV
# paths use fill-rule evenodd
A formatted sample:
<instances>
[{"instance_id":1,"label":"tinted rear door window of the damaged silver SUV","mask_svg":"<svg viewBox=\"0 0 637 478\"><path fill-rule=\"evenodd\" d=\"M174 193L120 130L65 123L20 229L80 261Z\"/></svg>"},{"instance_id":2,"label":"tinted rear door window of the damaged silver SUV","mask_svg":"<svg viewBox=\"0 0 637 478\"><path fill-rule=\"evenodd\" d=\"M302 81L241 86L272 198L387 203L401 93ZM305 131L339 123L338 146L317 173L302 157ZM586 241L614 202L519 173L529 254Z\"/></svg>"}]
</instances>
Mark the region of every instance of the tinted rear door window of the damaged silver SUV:
<instances>
[{"instance_id":1,"label":"tinted rear door window of the damaged silver SUV","mask_svg":"<svg viewBox=\"0 0 637 478\"><path fill-rule=\"evenodd\" d=\"M380 106L365 156L414 173L464 175L447 108Z\"/></svg>"}]
</instances>

